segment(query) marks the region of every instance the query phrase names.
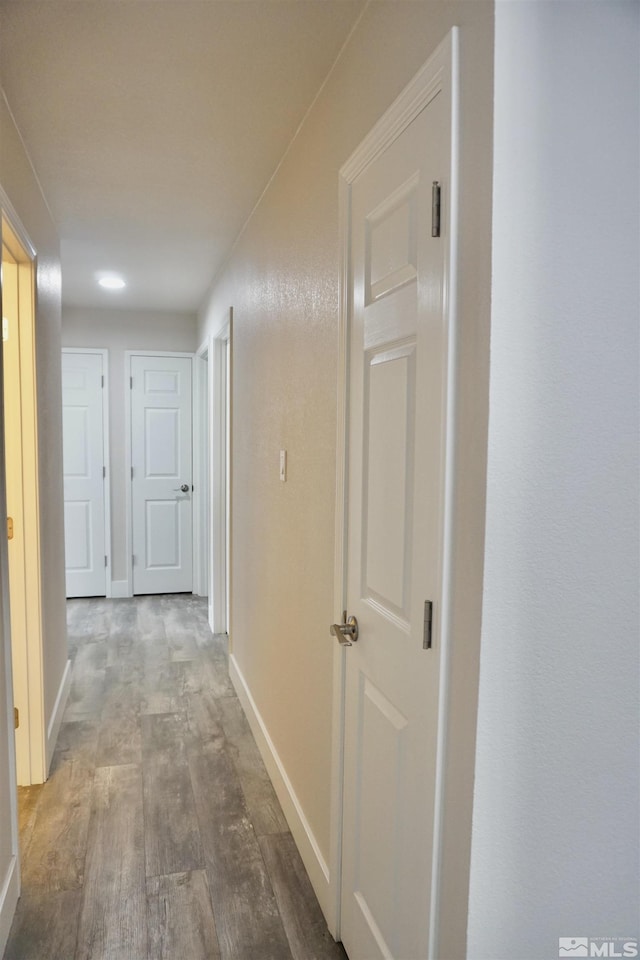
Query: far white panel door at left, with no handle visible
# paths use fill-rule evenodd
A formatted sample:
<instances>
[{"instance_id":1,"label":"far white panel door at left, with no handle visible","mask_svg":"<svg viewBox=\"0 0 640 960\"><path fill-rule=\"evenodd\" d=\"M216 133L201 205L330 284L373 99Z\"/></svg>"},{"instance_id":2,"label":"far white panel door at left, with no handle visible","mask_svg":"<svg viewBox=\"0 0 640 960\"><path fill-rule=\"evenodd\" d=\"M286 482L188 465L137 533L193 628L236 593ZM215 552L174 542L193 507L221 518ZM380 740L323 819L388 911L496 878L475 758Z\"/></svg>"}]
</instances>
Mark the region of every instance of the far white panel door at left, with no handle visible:
<instances>
[{"instance_id":1,"label":"far white panel door at left, with no handle visible","mask_svg":"<svg viewBox=\"0 0 640 960\"><path fill-rule=\"evenodd\" d=\"M102 356L62 354L68 597L106 596Z\"/></svg>"}]
</instances>

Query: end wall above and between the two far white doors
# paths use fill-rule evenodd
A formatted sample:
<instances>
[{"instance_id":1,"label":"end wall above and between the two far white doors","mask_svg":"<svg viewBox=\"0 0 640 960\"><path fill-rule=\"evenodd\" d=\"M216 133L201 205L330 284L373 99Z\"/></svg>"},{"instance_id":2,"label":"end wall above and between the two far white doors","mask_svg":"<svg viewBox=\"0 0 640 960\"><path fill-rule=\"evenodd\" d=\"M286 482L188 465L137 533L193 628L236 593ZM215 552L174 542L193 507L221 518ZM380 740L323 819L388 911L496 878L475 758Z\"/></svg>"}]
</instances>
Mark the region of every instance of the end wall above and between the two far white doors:
<instances>
[{"instance_id":1,"label":"end wall above and between the two far white doors","mask_svg":"<svg viewBox=\"0 0 640 960\"><path fill-rule=\"evenodd\" d=\"M125 350L195 351L196 316L142 310L65 307L63 347L100 347L109 351L109 443L111 458L111 577L127 578Z\"/></svg>"}]
</instances>

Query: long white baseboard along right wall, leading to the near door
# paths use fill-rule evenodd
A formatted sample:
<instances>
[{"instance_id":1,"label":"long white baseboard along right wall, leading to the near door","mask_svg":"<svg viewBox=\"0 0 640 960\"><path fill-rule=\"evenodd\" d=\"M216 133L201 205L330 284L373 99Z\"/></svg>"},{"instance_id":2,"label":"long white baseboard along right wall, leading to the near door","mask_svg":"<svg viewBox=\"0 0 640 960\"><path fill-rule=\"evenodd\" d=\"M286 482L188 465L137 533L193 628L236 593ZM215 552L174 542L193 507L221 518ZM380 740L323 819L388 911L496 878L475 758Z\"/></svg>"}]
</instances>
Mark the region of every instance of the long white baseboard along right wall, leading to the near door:
<instances>
[{"instance_id":1,"label":"long white baseboard along right wall, leading to the near door","mask_svg":"<svg viewBox=\"0 0 640 960\"><path fill-rule=\"evenodd\" d=\"M325 917L328 917L332 913L333 902L329 867L233 654L229 657L229 675L258 744L267 773L271 777L293 839L300 851L302 862L309 874L311 886L315 890L322 912Z\"/></svg>"}]
</instances>

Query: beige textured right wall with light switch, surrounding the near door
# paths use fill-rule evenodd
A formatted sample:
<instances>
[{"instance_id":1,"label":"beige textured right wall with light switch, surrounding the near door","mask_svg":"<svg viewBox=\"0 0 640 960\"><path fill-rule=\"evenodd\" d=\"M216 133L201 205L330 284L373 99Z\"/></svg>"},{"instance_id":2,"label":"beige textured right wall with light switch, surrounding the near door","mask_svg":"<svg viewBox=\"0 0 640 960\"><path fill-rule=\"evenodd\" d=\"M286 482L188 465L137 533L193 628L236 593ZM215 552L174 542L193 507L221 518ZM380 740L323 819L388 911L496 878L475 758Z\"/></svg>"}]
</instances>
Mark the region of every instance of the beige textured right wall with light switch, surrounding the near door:
<instances>
[{"instance_id":1,"label":"beige textured right wall with light switch, surrounding the near door","mask_svg":"<svg viewBox=\"0 0 640 960\"><path fill-rule=\"evenodd\" d=\"M461 27L461 248L452 737L445 822L463 952L487 432L493 4L376 2L365 10L201 312L233 329L232 646L329 858L338 170L454 24ZM278 479L278 451L289 477ZM333 641L335 642L335 641ZM451 817L449 816L451 813ZM462 825L462 828L461 828ZM443 950L444 954L444 950Z\"/></svg>"}]
</instances>

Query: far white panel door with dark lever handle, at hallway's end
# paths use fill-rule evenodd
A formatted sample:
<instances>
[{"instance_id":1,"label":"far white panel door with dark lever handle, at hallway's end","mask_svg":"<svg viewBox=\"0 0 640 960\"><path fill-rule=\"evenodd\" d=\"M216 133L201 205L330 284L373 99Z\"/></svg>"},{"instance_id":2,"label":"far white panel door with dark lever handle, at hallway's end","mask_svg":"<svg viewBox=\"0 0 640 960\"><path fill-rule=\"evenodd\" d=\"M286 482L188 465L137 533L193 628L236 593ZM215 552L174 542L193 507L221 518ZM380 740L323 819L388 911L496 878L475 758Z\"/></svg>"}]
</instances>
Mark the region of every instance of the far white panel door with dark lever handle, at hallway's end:
<instances>
[{"instance_id":1,"label":"far white panel door with dark lever handle, at hallway's end","mask_svg":"<svg viewBox=\"0 0 640 960\"><path fill-rule=\"evenodd\" d=\"M133 592L191 592L191 358L131 358Z\"/></svg>"}]
</instances>

